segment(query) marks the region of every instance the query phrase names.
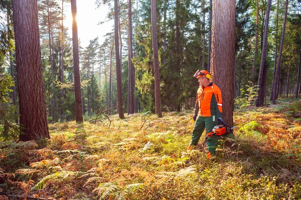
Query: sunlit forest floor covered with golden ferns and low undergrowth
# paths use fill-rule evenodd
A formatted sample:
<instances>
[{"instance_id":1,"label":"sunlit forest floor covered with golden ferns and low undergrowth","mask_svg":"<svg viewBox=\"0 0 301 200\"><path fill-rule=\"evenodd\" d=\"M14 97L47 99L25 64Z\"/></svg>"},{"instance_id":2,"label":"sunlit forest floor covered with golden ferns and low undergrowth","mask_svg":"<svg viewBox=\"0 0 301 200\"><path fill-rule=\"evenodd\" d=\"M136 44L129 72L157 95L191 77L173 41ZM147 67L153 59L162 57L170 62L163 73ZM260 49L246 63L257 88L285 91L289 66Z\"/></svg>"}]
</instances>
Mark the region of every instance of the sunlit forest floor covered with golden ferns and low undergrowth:
<instances>
[{"instance_id":1,"label":"sunlit forest floor covered with golden ferns and low undergrowth","mask_svg":"<svg viewBox=\"0 0 301 200\"><path fill-rule=\"evenodd\" d=\"M301 101L235 112L236 146L188 150L192 111L49 124L51 140L0 142L9 199L301 199ZM5 199L4 196L0 199Z\"/></svg>"}]
</instances>

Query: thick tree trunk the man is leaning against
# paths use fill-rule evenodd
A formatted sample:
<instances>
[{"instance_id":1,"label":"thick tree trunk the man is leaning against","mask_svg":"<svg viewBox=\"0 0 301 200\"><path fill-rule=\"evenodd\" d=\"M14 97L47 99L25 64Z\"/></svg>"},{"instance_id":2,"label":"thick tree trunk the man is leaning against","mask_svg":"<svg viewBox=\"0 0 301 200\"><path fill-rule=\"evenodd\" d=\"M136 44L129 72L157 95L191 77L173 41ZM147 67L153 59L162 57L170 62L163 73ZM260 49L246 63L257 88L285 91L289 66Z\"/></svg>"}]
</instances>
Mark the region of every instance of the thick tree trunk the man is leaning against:
<instances>
[{"instance_id":1,"label":"thick tree trunk the man is leaning against","mask_svg":"<svg viewBox=\"0 0 301 200\"><path fill-rule=\"evenodd\" d=\"M211 73L223 92L223 119L233 125L233 74L235 59L235 1L212 3Z\"/></svg>"}]
</instances>

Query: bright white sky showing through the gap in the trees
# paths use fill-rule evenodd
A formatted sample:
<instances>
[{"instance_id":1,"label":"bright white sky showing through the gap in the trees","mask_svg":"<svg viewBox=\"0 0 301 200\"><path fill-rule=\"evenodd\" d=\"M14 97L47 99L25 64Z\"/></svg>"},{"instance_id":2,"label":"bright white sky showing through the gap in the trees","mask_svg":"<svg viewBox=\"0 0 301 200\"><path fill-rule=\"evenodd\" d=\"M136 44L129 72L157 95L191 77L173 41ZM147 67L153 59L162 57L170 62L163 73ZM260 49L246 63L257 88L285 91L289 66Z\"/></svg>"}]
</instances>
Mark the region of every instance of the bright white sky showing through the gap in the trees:
<instances>
[{"instance_id":1,"label":"bright white sky showing through the gap in the trees","mask_svg":"<svg viewBox=\"0 0 301 200\"><path fill-rule=\"evenodd\" d=\"M97 8L95 0L76 0L77 3L77 31L81 46L85 48L91 39L98 36L99 44L104 41L103 35L111 31L114 25L114 20L110 20L101 25L97 25L99 21L107 20L105 17L109 11L107 5L101 5ZM68 27L68 32L72 38L72 14L71 3L65 3L66 19L64 25Z\"/></svg>"}]
</instances>

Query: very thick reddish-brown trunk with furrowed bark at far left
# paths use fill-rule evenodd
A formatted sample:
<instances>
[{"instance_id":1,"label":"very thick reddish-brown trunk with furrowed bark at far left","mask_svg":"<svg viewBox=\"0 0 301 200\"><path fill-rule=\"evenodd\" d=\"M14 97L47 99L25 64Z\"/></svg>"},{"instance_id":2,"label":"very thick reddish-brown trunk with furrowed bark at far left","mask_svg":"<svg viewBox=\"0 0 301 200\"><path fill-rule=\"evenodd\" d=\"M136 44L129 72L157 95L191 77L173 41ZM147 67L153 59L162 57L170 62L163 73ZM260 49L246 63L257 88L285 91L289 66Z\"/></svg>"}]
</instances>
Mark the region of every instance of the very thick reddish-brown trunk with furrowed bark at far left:
<instances>
[{"instance_id":1,"label":"very thick reddish-brown trunk with furrowed bark at far left","mask_svg":"<svg viewBox=\"0 0 301 200\"><path fill-rule=\"evenodd\" d=\"M50 138L43 88L37 0L13 0L20 123L20 140Z\"/></svg>"}]
</instances>

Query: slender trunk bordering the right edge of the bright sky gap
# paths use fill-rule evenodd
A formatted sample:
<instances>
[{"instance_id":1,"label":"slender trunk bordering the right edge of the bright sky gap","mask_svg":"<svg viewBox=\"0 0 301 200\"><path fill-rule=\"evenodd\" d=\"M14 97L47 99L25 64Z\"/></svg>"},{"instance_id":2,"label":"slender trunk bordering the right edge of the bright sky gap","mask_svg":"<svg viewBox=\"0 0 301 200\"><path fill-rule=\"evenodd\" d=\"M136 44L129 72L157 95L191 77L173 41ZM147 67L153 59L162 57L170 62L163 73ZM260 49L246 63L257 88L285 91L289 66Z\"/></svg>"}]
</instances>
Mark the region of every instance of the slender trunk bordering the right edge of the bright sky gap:
<instances>
[{"instance_id":1,"label":"slender trunk bordering the right edge of the bright sky gap","mask_svg":"<svg viewBox=\"0 0 301 200\"><path fill-rule=\"evenodd\" d=\"M116 57L116 78L117 78L117 106L119 118L124 118L122 107L121 92L121 63L119 58L119 41L118 41L118 0L114 0L114 29L115 29L115 57Z\"/></svg>"}]
</instances>

